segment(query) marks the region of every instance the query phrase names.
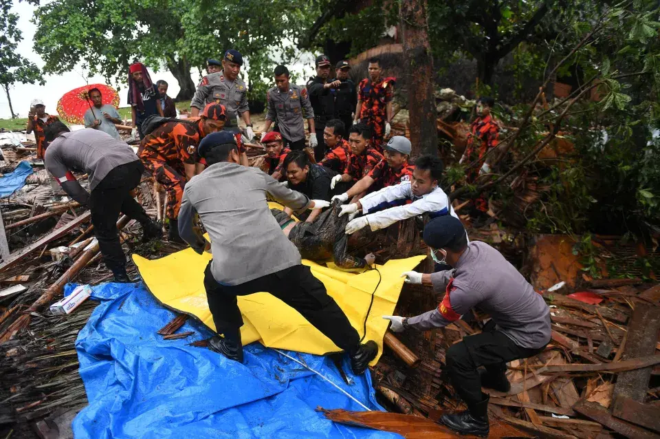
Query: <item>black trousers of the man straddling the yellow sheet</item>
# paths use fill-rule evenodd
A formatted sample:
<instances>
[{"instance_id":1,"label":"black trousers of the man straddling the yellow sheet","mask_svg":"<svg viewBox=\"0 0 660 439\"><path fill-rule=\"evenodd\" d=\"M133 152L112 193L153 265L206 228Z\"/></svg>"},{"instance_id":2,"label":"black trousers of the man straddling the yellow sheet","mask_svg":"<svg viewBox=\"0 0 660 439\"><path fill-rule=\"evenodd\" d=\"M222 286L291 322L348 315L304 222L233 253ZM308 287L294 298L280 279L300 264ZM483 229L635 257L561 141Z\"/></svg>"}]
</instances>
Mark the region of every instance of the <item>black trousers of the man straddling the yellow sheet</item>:
<instances>
[{"instance_id":1,"label":"black trousers of the man straddling the yellow sheet","mask_svg":"<svg viewBox=\"0 0 660 439\"><path fill-rule=\"evenodd\" d=\"M314 328L349 354L355 354L360 335L336 301L330 297L323 283L311 274L309 267L297 265L241 283L226 286L217 283L211 274L211 263L204 271L204 288L208 308L218 334L235 332L243 326L243 317L236 297L254 292L270 292L294 310L303 314ZM226 334L225 334L226 335Z\"/></svg>"}]
</instances>

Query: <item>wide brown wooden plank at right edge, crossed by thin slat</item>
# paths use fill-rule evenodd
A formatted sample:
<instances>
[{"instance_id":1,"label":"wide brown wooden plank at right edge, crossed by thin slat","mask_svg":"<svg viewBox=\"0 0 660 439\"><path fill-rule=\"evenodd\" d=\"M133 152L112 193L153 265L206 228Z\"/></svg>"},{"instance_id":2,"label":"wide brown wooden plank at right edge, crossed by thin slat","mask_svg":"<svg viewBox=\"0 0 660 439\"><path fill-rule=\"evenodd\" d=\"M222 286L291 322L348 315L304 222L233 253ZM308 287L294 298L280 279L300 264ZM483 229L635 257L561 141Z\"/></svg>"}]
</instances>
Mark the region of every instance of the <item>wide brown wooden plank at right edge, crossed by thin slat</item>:
<instances>
[{"instance_id":1,"label":"wide brown wooden plank at right edge, crossed by thin slat","mask_svg":"<svg viewBox=\"0 0 660 439\"><path fill-rule=\"evenodd\" d=\"M628 326L625 352L621 356L624 361L619 361L617 364L626 363L626 360L632 358L638 359L653 354L659 331L660 308L654 306L635 307ZM619 374L614 387L614 398L621 395L643 403L648 389L648 382L651 378L652 367L650 366Z\"/></svg>"}]
</instances>

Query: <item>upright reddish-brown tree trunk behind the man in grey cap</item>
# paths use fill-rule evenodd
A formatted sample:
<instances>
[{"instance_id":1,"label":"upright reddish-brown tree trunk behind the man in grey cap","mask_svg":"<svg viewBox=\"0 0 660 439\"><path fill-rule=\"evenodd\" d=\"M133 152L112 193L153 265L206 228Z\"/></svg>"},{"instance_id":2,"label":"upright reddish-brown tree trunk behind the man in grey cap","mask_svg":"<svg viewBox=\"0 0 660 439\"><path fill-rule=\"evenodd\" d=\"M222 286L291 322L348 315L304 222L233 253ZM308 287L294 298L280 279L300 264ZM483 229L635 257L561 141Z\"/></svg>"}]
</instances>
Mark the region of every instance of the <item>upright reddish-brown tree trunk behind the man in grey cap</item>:
<instances>
[{"instance_id":1,"label":"upright reddish-brown tree trunk behind the man in grey cap","mask_svg":"<svg viewBox=\"0 0 660 439\"><path fill-rule=\"evenodd\" d=\"M428 43L426 0L401 0L399 19L404 44L412 156L438 155L433 58Z\"/></svg>"}]
</instances>

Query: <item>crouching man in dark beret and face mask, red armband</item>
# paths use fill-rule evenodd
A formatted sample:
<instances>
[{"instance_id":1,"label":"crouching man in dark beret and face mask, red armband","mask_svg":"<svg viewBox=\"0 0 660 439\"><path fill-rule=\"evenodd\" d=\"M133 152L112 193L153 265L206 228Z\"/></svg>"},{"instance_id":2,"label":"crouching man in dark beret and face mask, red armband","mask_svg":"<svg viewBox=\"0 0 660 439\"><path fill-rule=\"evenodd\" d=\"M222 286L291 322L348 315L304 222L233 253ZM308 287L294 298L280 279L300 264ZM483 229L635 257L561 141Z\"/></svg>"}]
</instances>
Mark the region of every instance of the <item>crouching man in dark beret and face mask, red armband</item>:
<instances>
[{"instance_id":1,"label":"crouching man in dark beret and face mask, red armband","mask_svg":"<svg viewBox=\"0 0 660 439\"><path fill-rule=\"evenodd\" d=\"M484 242L467 244L465 228L459 219L444 216L424 228L424 242L434 259L437 253L453 270L430 275L404 272L408 283L432 285L445 291L438 308L408 319L383 316L395 332L412 328L426 331L443 328L461 319L472 308L492 319L483 332L463 338L446 352L452 386L463 398L467 411L441 416L441 422L461 434L488 436L488 396L481 386L508 392L511 388L506 363L529 358L545 349L550 341L550 310L514 266ZM483 373L478 367L484 366ZM481 375L481 376L480 376Z\"/></svg>"}]
</instances>

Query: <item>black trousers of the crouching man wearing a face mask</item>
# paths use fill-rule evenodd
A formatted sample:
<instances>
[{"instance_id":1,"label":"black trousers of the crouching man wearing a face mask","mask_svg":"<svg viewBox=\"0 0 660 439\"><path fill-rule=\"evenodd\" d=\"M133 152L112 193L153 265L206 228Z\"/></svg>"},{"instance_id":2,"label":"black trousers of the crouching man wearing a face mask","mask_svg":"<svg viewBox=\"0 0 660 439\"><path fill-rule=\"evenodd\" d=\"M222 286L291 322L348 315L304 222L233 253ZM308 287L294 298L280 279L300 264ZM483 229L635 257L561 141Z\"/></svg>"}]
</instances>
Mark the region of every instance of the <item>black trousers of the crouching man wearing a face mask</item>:
<instances>
[{"instance_id":1,"label":"black trousers of the crouching man wearing a face mask","mask_svg":"<svg viewBox=\"0 0 660 439\"><path fill-rule=\"evenodd\" d=\"M479 366L485 366L493 374L506 372L509 361L529 358L544 349L545 346L529 349L516 345L504 332L495 330L495 324L489 321L481 334L464 337L447 350L447 369L452 386L470 407L483 400Z\"/></svg>"}]
</instances>

